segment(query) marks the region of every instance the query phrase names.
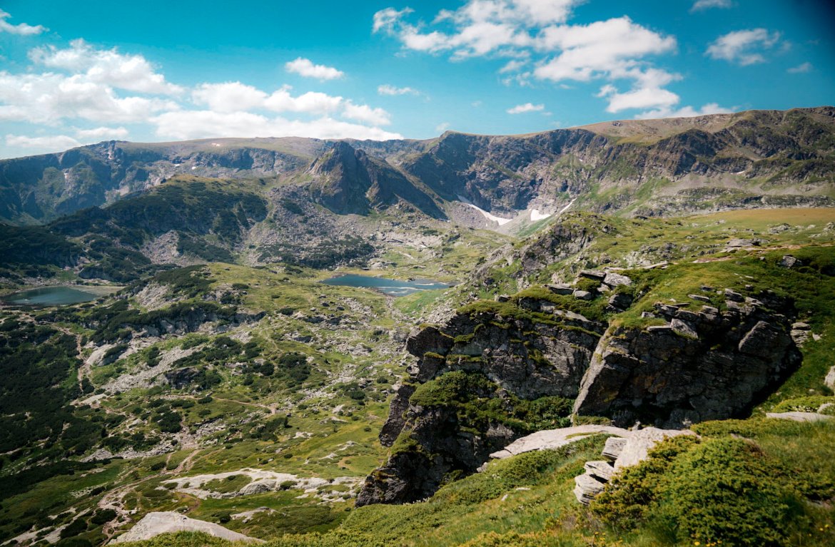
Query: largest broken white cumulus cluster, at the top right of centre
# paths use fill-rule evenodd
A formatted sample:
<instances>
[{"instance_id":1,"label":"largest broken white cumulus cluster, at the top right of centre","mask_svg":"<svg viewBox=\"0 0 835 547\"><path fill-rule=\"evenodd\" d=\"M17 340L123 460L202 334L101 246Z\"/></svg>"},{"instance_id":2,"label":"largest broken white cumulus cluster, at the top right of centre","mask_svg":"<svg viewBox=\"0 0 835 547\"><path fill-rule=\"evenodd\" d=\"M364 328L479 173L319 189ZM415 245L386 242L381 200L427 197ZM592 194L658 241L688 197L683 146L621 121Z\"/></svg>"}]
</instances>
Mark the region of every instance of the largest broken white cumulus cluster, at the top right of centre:
<instances>
[{"instance_id":1,"label":"largest broken white cumulus cluster, at the top right of centre","mask_svg":"<svg viewBox=\"0 0 835 547\"><path fill-rule=\"evenodd\" d=\"M629 91L599 95L610 101L610 112L669 108L677 103L678 96L664 86L681 76L655 68L650 61L652 56L674 53L676 38L626 16L570 24L572 10L580 3L469 0L457 10L442 10L430 24L411 23L409 8L387 8L374 15L372 29L397 38L404 49L448 53L453 60L509 57L498 69L499 74L506 74L502 79L506 85L530 85L534 79L561 85L566 81L629 80Z\"/></svg>"}]
</instances>

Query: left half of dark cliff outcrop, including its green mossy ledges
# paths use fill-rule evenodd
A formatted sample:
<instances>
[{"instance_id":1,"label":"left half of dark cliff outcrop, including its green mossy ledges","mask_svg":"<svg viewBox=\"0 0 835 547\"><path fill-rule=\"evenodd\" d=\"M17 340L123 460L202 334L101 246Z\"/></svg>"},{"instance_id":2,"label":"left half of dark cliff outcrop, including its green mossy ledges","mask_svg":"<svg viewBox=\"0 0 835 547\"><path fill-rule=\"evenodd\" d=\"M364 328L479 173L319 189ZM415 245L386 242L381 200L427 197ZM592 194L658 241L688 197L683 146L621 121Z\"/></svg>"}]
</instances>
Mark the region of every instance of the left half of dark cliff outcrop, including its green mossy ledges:
<instances>
[{"instance_id":1,"label":"left half of dark cliff outcrop, including its green mossy ledges","mask_svg":"<svg viewBox=\"0 0 835 547\"><path fill-rule=\"evenodd\" d=\"M392 456L357 504L423 499L520 435L554 427L604 329L547 300L525 299L519 307L465 309L442 329L412 334L407 349L420 358L412 379L422 385L397 390L381 434L394 444Z\"/></svg>"}]
</instances>

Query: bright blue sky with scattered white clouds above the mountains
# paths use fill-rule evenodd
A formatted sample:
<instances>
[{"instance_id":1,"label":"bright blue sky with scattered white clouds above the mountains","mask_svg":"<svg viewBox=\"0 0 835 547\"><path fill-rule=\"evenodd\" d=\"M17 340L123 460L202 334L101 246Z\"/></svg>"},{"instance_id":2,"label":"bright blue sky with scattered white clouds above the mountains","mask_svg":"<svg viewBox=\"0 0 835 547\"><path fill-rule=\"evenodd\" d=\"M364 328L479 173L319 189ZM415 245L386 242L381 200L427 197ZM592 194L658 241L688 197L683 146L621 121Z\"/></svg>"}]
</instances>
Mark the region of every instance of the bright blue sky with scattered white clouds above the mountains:
<instances>
[{"instance_id":1,"label":"bright blue sky with scattered white clouds above the mountains","mask_svg":"<svg viewBox=\"0 0 835 547\"><path fill-rule=\"evenodd\" d=\"M0 0L0 158L835 103L827 0Z\"/></svg>"}]
</instances>

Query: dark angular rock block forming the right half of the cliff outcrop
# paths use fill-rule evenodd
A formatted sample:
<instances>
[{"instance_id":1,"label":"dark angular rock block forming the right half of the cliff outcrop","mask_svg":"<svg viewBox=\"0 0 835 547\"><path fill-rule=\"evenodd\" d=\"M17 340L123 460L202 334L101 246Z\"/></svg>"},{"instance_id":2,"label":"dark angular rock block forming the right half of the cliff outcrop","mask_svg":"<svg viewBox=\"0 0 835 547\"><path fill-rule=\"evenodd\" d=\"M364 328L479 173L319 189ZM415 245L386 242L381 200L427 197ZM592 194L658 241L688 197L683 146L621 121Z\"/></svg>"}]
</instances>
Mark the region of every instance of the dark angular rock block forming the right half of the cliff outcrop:
<instances>
[{"instance_id":1,"label":"dark angular rock block forming the right half of the cliff outcrop","mask_svg":"<svg viewBox=\"0 0 835 547\"><path fill-rule=\"evenodd\" d=\"M600 340L575 413L665 428L741 416L800 363L785 315L751 304L724 313L656 310L670 326L615 328Z\"/></svg>"}]
</instances>

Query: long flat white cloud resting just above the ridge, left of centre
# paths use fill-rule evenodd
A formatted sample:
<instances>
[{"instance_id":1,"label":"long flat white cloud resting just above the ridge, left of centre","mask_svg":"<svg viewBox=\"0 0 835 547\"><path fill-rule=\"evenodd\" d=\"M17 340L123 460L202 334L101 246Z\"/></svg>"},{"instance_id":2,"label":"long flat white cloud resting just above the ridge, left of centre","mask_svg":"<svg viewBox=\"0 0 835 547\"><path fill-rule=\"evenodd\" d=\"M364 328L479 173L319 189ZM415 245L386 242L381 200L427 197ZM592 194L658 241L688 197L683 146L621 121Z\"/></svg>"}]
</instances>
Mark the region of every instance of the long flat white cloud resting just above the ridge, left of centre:
<instances>
[{"instance_id":1,"label":"long flat white cloud resting just above the ridge, left of centre","mask_svg":"<svg viewBox=\"0 0 835 547\"><path fill-rule=\"evenodd\" d=\"M248 112L219 113L210 110L181 110L151 119L159 138L210 137L308 137L389 140L402 138L380 128L348 123L330 117L312 121L268 118Z\"/></svg>"}]
</instances>

